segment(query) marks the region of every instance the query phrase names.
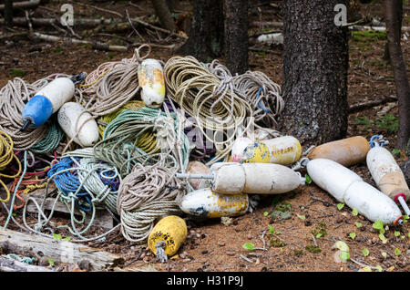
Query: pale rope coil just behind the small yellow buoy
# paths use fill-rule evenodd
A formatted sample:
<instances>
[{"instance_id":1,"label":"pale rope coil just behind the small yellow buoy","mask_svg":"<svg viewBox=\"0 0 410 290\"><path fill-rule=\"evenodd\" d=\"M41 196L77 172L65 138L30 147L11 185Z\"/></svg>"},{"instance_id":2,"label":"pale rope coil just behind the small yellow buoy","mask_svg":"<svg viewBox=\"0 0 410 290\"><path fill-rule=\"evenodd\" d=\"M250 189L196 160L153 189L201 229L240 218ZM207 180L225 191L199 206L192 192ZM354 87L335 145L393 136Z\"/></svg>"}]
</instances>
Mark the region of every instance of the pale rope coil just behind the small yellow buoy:
<instances>
[{"instance_id":1,"label":"pale rope coil just behind the small yellow buoy","mask_svg":"<svg viewBox=\"0 0 410 290\"><path fill-rule=\"evenodd\" d=\"M184 192L176 171L154 165L136 164L118 189L118 212L121 232L131 242L144 242L155 220L180 212L179 200Z\"/></svg>"}]
</instances>

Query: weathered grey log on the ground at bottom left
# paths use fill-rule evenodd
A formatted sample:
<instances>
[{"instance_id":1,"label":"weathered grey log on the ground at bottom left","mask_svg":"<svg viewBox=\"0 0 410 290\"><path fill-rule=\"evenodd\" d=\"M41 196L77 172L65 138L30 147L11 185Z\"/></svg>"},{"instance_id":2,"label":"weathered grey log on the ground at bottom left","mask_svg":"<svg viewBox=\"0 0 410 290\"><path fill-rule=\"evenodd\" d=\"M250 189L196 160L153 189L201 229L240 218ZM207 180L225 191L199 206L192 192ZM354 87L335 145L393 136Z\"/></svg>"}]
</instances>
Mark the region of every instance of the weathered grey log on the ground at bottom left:
<instances>
[{"instance_id":1,"label":"weathered grey log on the ground at bottom left","mask_svg":"<svg viewBox=\"0 0 410 290\"><path fill-rule=\"evenodd\" d=\"M123 258L116 254L90 248L67 241L57 241L37 234L20 233L0 229L0 243L14 243L17 247L29 247L36 254L51 258L55 262L77 264L82 260L90 262L93 270L102 270L123 264Z\"/></svg>"}]
</instances>

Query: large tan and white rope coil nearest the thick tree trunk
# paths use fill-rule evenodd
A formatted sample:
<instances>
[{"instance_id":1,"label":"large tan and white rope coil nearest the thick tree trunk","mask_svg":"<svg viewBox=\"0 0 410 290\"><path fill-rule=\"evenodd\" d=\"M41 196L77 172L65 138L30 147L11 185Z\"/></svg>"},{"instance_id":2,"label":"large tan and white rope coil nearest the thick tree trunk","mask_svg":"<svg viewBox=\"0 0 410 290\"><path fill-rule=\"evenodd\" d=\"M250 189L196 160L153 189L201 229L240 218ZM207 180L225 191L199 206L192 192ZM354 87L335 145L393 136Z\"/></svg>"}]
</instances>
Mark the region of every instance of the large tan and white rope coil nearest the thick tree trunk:
<instances>
[{"instance_id":1,"label":"large tan and white rope coil nearest the thick tree trunk","mask_svg":"<svg viewBox=\"0 0 410 290\"><path fill-rule=\"evenodd\" d=\"M252 117L251 106L234 93L230 76L221 81L194 57L172 57L165 65L165 79L169 98L195 119L194 126L218 150L208 163L227 161L237 129L245 126L243 134L253 122L247 119Z\"/></svg>"}]
</instances>

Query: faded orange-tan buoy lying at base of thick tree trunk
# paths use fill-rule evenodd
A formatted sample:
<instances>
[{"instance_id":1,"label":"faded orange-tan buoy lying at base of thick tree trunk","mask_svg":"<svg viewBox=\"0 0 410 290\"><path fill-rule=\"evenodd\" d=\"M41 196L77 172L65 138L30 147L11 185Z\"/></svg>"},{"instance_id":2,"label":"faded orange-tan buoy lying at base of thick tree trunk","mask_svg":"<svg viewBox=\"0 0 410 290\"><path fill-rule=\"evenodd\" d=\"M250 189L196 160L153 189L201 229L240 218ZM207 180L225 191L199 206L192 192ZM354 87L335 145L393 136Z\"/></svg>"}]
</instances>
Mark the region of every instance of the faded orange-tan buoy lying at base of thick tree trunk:
<instances>
[{"instance_id":1,"label":"faded orange-tan buoy lying at base of thick tree trunk","mask_svg":"<svg viewBox=\"0 0 410 290\"><path fill-rule=\"evenodd\" d=\"M329 159L349 167L364 162L369 150L369 142L362 136L355 136L315 147L308 153L307 158L309 160Z\"/></svg>"}]
</instances>

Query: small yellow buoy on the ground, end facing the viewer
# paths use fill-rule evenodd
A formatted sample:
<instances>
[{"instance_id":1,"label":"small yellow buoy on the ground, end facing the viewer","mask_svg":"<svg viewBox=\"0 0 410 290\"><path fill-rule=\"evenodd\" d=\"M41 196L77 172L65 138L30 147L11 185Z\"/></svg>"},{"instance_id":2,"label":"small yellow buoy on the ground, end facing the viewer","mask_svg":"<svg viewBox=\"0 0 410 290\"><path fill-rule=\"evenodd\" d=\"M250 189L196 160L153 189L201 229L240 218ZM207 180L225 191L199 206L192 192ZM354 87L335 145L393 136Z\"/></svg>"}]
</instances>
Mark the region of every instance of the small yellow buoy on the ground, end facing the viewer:
<instances>
[{"instance_id":1,"label":"small yellow buoy on the ground, end facing the viewer","mask_svg":"<svg viewBox=\"0 0 410 290\"><path fill-rule=\"evenodd\" d=\"M164 217L149 233L149 250L156 254L162 263L166 262L167 256L177 254L179 247L187 238L187 234L187 224L179 216Z\"/></svg>"}]
</instances>

